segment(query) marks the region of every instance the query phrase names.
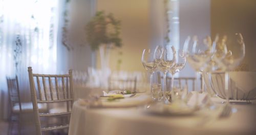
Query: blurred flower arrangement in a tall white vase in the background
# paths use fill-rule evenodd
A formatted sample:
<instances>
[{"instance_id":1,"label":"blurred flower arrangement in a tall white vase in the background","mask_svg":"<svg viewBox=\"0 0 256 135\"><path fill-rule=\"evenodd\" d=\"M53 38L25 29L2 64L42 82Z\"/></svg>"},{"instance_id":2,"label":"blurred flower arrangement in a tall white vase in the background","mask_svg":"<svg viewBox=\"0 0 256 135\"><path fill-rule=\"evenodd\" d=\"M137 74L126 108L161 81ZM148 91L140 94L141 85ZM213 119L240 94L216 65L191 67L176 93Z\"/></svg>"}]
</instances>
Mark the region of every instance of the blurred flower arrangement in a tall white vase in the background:
<instances>
[{"instance_id":1,"label":"blurred flower arrangement in a tall white vase in the background","mask_svg":"<svg viewBox=\"0 0 256 135\"><path fill-rule=\"evenodd\" d=\"M110 51L121 47L120 20L116 20L112 13L105 14L98 11L86 25L86 40L93 51L99 50L101 64L101 87L108 87Z\"/></svg>"}]
</instances>

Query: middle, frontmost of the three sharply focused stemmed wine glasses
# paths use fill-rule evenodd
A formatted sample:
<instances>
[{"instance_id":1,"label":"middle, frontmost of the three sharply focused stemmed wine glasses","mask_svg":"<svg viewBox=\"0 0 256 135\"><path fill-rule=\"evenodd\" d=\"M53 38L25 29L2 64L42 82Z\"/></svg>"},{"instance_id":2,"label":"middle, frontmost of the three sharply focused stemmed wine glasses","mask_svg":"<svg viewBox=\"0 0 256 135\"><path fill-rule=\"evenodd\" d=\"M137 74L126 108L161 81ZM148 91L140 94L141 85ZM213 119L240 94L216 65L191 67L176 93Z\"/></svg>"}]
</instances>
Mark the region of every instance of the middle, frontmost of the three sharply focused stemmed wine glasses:
<instances>
[{"instance_id":1,"label":"middle, frontmost of the three sharply focused stemmed wine glasses","mask_svg":"<svg viewBox=\"0 0 256 135\"><path fill-rule=\"evenodd\" d=\"M168 97L166 97L166 74L169 69L173 68L176 63L176 51L173 46L157 46L154 55L157 62L158 69L163 72L163 99L164 103L168 103Z\"/></svg>"}]
</instances>

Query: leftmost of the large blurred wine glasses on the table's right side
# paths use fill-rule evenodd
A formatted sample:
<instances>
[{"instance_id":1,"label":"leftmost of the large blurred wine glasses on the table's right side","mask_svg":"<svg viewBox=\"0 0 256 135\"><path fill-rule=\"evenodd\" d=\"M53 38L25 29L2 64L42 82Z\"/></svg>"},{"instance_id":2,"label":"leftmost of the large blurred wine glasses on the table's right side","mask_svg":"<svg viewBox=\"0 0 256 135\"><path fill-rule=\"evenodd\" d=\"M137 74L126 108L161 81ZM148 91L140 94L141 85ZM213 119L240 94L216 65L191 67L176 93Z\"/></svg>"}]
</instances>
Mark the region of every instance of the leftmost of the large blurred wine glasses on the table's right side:
<instances>
[{"instance_id":1,"label":"leftmost of the large blurred wine glasses on the table's right side","mask_svg":"<svg viewBox=\"0 0 256 135\"><path fill-rule=\"evenodd\" d=\"M194 36L190 41L190 37L187 37L183 50L185 51L189 65L197 72L197 84L199 84L200 76L203 74L204 69L207 67L207 64L210 62L212 57L213 52L211 38L210 36L206 36L203 39L199 39L198 36ZM203 76L202 93L204 93Z\"/></svg>"}]
</instances>

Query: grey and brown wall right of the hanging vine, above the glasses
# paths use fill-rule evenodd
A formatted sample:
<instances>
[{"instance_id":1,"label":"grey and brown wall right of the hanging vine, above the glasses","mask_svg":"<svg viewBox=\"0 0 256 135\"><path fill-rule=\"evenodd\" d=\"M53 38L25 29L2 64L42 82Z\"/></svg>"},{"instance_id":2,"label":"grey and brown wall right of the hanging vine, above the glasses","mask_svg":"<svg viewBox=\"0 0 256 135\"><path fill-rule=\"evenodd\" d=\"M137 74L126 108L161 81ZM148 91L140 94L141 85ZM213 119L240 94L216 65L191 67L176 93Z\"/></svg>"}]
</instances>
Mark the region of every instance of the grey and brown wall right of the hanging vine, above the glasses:
<instances>
[{"instance_id":1,"label":"grey and brown wall right of the hanging vine, above the glasses","mask_svg":"<svg viewBox=\"0 0 256 135\"><path fill-rule=\"evenodd\" d=\"M180 0L180 44L188 35L215 36L241 32L246 55L242 63L256 71L256 1L254 0ZM194 76L186 64L181 76Z\"/></svg>"}]
</instances>

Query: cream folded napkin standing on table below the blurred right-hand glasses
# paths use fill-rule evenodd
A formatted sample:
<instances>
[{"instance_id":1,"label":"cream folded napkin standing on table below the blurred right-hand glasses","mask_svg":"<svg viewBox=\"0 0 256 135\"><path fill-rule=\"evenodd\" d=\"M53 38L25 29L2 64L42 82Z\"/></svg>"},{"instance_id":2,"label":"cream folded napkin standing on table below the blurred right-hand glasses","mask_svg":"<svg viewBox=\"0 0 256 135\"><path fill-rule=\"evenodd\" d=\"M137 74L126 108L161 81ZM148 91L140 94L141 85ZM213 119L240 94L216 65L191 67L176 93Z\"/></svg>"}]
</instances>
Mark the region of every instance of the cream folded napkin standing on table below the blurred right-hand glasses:
<instances>
[{"instance_id":1,"label":"cream folded napkin standing on table below the blurred right-hand glasses","mask_svg":"<svg viewBox=\"0 0 256 135\"><path fill-rule=\"evenodd\" d=\"M204 107L211 104L210 96L208 94L201 94L196 91L188 94L187 105L188 106L199 106Z\"/></svg>"}]
</instances>

